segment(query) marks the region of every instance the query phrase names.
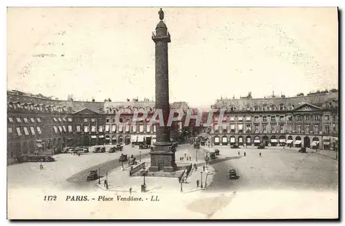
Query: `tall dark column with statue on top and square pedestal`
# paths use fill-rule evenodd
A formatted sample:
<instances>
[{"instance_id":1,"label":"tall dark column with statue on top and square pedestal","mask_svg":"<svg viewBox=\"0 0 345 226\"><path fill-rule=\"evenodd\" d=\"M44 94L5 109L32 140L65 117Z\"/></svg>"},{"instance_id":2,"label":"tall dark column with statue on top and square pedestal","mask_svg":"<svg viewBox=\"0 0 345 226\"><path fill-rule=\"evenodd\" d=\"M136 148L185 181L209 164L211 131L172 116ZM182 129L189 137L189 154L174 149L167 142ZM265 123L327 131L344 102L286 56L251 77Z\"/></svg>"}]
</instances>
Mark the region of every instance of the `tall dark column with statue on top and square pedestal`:
<instances>
[{"instance_id":1,"label":"tall dark column with statue on top and square pedestal","mask_svg":"<svg viewBox=\"0 0 345 226\"><path fill-rule=\"evenodd\" d=\"M156 32L152 34L152 40L155 42L156 59L156 110L161 109L164 115L164 126L158 126L156 130L156 143L153 151L150 152L151 166L149 171L173 172L176 170L175 152L172 150L170 141L170 127L167 127L168 116L170 112L169 105L169 76L168 76L168 43L170 43L170 34L166 24L163 22L164 12L160 10L159 23Z\"/></svg>"}]
</instances>

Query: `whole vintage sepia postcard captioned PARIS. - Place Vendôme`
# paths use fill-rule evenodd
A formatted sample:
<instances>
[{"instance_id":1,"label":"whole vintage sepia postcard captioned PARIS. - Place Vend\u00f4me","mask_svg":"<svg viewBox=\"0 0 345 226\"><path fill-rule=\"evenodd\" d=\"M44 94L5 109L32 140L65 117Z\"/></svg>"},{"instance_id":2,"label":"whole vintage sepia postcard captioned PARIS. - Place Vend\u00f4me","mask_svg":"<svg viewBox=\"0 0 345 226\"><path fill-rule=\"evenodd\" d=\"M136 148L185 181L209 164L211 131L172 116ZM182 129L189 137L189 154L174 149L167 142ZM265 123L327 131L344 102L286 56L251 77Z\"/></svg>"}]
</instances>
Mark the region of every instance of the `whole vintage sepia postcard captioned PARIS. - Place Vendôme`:
<instances>
[{"instance_id":1,"label":"whole vintage sepia postcard captioned PARIS. - Place Vend\u00f4me","mask_svg":"<svg viewBox=\"0 0 345 226\"><path fill-rule=\"evenodd\" d=\"M8 219L339 217L337 8L8 8Z\"/></svg>"}]
</instances>

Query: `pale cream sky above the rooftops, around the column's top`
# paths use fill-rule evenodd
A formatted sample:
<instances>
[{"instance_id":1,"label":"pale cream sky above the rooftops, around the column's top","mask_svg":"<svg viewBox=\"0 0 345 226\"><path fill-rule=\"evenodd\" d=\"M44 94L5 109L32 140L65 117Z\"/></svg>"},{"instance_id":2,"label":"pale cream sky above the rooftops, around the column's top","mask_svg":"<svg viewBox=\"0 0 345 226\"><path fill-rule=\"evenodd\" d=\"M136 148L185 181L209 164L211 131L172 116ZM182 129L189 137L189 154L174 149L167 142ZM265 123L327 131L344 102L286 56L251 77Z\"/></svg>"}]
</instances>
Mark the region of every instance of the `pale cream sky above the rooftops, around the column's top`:
<instances>
[{"instance_id":1,"label":"pale cream sky above the rooftops, around the column's top","mask_svg":"<svg viewBox=\"0 0 345 226\"><path fill-rule=\"evenodd\" d=\"M164 8L170 103L338 87L337 8ZM155 96L159 8L8 8L8 90Z\"/></svg>"}]
</instances>

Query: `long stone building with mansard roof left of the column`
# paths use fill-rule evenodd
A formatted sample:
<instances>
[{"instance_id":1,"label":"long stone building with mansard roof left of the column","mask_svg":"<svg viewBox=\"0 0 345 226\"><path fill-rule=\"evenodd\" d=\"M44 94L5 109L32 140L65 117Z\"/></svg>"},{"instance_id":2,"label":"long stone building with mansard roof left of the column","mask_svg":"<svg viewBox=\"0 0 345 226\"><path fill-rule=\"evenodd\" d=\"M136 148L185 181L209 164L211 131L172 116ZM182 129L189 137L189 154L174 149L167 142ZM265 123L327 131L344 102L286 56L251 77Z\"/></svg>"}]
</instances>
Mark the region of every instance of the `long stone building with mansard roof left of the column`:
<instances>
[{"instance_id":1,"label":"long stone building with mansard roof left of the column","mask_svg":"<svg viewBox=\"0 0 345 226\"><path fill-rule=\"evenodd\" d=\"M171 107L180 107L172 103ZM186 103L182 104L188 108ZM53 147L155 142L156 125L148 125L155 102L59 101L30 94L8 92L8 162L22 154L45 153ZM145 110L145 121L131 125L136 110ZM115 114L121 112L120 124ZM175 122L172 130L181 130ZM50 152L51 153L51 152Z\"/></svg>"}]
</instances>

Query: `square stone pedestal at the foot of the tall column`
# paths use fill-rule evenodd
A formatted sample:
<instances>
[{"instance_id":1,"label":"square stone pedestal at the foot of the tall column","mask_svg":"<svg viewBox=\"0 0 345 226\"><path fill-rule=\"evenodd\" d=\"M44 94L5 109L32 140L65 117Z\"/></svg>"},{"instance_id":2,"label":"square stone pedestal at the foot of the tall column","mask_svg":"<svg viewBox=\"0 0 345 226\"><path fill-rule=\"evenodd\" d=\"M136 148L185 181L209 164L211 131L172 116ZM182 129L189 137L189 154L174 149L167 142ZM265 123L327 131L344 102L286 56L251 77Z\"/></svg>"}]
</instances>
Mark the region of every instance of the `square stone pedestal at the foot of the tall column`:
<instances>
[{"instance_id":1,"label":"square stone pedestal at the foot of the tall column","mask_svg":"<svg viewBox=\"0 0 345 226\"><path fill-rule=\"evenodd\" d=\"M150 152L150 156L151 165L148 171L175 172L177 170L175 152L171 151L171 146L155 146Z\"/></svg>"}]
</instances>

